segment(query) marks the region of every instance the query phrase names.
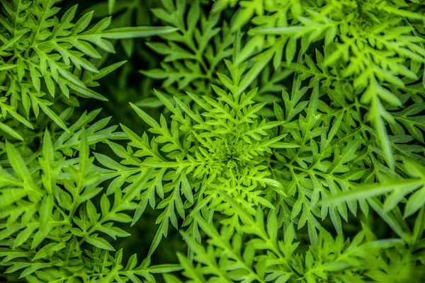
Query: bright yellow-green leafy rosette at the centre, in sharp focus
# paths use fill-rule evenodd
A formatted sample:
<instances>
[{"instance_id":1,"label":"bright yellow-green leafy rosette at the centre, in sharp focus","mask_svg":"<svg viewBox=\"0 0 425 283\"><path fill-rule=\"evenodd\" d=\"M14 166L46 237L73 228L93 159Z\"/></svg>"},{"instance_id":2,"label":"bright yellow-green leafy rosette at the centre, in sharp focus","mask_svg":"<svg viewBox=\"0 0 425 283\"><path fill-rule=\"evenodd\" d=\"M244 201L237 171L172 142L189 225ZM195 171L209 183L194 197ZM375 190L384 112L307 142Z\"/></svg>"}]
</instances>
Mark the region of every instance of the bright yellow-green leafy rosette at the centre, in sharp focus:
<instances>
[{"instance_id":1,"label":"bright yellow-green leafy rosette at the centre, in sharp focus","mask_svg":"<svg viewBox=\"0 0 425 283\"><path fill-rule=\"evenodd\" d=\"M139 197L140 204L133 219L134 224L148 202L152 208L164 209L157 219L160 226L149 253L153 253L162 236L167 235L170 221L178 228L175 210L185 219L183 226L190 224L191 235L200 241L198 226L191 217L193 213L203 209L210 217L215 211L229 216L233 214L229 205L223 202L221 192L232 195L251 214L255 213L254 207L259 204L273 208L264 197L267 190L274 191L273 195L285 195L283 186L270 178L267 165L271 149L288 149L297 145L283 142L285 135L273 131L283 122L269 122L259 117L257 112L265 103L254 102L256 89L240 93L238 82L246 65L238 68L230 62L227 64L233 81L225 75L219 76L230 93L217 86L212 86L217 95L215 100L208 96L197 98L188 93L196 103L196 109L191 110L179 98L174 98L174 105L157 92L158 98L172 113L171 125L164 115L157 122L132 105L137 115L149 125L149 132L154 134L154 138L149 141L146 133L138 137L122 125L130 139L128 148L113 142L108 144L115 154L123 158L123 165L106 156L97 156L103 166L111 169L111 178L117 177L108 188L109 193L125 181L135 182L147 168L154 168L152 180ZM155 195L162 199L157 205ZM191 210L186 212L188 209Z\"/></svg>"}]
</instances>

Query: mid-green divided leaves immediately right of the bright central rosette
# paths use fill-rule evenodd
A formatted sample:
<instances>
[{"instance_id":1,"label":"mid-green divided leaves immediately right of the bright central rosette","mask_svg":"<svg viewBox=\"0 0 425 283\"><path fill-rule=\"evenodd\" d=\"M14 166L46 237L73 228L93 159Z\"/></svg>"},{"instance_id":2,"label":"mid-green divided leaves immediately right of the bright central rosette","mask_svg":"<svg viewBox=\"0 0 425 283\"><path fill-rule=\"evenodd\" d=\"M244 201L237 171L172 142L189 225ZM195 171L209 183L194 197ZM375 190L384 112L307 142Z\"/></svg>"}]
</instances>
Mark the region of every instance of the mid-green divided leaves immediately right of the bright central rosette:
<instances>
[{"instance_id":1,"label":"mid-green divided leaves immediately right of the bright central rosette","mask_svg":"<svg viewBox=\"0 0 425 283\"><path fill-rule=\"evenodd\" d=\"M319 100L318 83L314 83L310 101L302 101L307 87L300 88L301 81L295 76L293 91L283 92L285 112L280 105L274 109L278 120L285 122L283 133L288 141L299 145L295 149L276 150L273 173L286 187L292 200L280 198L275 207L280 207L280 219L295 221L298 228L307 224L312 244L317 242L317 218L328 215L338 233L342 233L341 217L348 220L346 204L318 207L320 199L335 195L340 190L350 190L365 175L363 160L356 156L361 144L366 144L356 125L358 117L351 108L331 110ZM347 112L347 113L346 113ZM298 119L293 119L297 115ZM344 119L348 118L348 119ZM367 156L369 157L369 156ZM288 204L290 213L288 213ZM361 209L368 214L368 206L361 202ZM348 203L356 215L356 202ZM329 214L328 214L329 213Z\"/></svg>"}]
</instances>

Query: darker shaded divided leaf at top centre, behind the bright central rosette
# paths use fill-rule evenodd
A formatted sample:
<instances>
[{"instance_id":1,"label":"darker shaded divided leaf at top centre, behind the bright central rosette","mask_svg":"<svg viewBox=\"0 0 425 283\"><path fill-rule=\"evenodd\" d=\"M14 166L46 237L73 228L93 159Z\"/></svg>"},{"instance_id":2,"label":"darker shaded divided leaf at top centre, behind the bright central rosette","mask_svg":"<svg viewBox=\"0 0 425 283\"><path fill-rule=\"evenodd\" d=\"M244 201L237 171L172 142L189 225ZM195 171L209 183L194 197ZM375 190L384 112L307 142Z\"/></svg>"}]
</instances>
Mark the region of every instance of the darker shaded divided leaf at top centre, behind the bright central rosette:
<instances>
[{"instance_id":1,"label":"darker shaded divided leaf at top centre, behind the bright central rosette","mask_svg":"<svg viewBox=\"0 0 425 283\"><path fill-rule=\"evenodd\" d=\"M164 55L164 60L161 68L140 72L163 80L164 91L183 101L189 101L185 91L197 96L214 96L211 85L225 86L217 76L218 73L228 74L224 59L233 58L234 64L242 64L263 49L261 42L231 30L228 21L222 20L222 13L214 9L208 13L198 0L191 4L183 0L162 0L162 4L164 8L154 8L152 13L164 24L178 30L161 35L166 42L147 43L154 52ZM251 88L259 87L256 100L273 103L279 98L271 93L278 93L285 87L280 81L289 72L282 68L272 72L267 66L271 59L269 53L253 58L255 64L248 66L251 76L245 87L250 84ZM257 76L259 81L256 81ZM147 106L144 102L142 100L137 105Z\"/></svg>"}]
</instances>

